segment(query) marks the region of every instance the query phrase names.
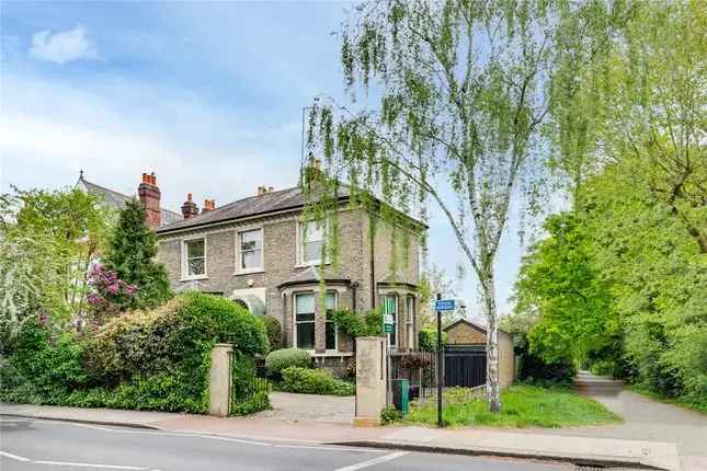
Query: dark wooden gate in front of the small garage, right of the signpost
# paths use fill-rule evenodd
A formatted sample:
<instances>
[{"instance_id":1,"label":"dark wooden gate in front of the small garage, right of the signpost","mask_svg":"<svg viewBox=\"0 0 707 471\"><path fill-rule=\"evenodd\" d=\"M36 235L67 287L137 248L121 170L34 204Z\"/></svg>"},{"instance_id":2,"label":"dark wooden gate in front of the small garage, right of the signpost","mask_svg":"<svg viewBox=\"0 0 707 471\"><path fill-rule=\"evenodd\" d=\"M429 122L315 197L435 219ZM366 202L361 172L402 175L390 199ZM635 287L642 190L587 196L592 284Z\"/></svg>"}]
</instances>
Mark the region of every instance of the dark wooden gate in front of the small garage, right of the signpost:
<instances>
[{"instance_id":1,"label":"dark wooden gate in front of the small garage, right of the signpost","mask_svg":"<svg viewBox=\"0 0 707 471\"><path fill-rule=\"evenodd\" d=\"M444 349L444 386L486 384L486 348L453 345Z\"/></svg>"}]
</instances>

